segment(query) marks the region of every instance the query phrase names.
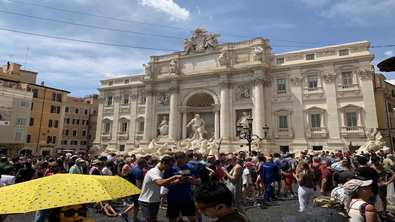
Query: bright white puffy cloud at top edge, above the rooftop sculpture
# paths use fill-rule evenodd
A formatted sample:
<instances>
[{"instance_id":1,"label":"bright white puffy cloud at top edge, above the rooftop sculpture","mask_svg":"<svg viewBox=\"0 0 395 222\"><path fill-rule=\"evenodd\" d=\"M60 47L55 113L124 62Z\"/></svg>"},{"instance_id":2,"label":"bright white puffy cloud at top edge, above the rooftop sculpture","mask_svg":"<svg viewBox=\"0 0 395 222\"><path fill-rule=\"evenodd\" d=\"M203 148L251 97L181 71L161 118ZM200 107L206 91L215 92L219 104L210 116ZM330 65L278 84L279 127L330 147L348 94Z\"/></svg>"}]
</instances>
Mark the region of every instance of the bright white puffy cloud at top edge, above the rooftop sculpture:
<instances>
[{"instance_id":1,"label":"bright white puffy cloud at top edge, above the rooftop sculpture","mask_svg":"<svg viewBox=\"0 0 395 222\"><path fill-rule=\"evenodd\" d=\"M169 16L170 21L189 19L190 12L185 8L181 8L173 0L139 0L142 6L153 7L156 11L160 11Z\"/></svg>"}]
</instances>

